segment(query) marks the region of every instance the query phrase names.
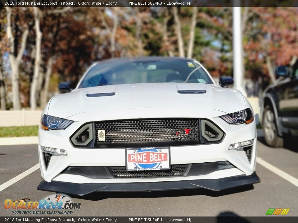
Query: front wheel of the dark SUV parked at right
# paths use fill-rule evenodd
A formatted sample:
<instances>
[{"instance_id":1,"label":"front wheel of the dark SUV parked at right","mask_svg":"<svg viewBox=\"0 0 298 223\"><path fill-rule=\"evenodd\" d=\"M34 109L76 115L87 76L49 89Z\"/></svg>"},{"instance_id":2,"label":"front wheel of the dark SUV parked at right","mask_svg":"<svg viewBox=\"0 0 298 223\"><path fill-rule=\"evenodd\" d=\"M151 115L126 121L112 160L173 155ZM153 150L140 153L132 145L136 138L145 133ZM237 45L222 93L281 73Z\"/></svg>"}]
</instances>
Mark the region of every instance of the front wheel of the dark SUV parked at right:
<instances>
[{"instance_id":1,"label":"front wheel of the dark SUV parked at right","mask_svg":"<svg viewBox=\"0 0 298 223\"><path fill-rule=\"evenodd\" d=\"M273 147L282 147L283 139L278 136L273 109L267 105L263 116L263 132L266 143Z\"/></svg>"}]
</instances>

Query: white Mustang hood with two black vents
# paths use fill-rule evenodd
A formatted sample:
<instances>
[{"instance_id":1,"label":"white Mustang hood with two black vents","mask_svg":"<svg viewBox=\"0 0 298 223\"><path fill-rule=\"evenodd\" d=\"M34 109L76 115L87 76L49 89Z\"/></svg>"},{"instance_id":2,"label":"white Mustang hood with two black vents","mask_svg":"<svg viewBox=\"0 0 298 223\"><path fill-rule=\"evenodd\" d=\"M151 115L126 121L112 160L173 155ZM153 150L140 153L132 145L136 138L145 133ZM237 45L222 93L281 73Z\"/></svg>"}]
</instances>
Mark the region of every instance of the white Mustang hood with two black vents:
<instances>
[{"instance_id":1,"label":"white Mustang hood with two black vents","mask_svg":"<svg viewBox=\"0 0 298 223\"><path fill-rule=\"evenodd\" d=\"M203 92L185 94L187 90ZM178 91L183 91L184 94L178 93ZM112 96L92 95L102 93L115 94ZM93 97L90 97L90 94ZM232 113L242 110L246 106L243 95L238 90L222 88L219 85L150 83L75 89L70 93L54 96L49 103L47 113L61 118L83 112L121 111L134 108L197 108Z\"/></svg>"}]
</instances>

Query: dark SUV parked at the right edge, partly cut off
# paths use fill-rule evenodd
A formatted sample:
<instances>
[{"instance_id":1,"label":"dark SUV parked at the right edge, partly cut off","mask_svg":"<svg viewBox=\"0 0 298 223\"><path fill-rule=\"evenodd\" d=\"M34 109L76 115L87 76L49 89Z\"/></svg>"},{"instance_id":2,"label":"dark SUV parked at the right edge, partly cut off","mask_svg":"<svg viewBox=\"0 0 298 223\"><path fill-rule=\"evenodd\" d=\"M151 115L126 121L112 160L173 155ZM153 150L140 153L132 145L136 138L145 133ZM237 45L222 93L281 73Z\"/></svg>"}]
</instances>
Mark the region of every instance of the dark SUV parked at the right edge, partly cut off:
<instances>
[{"instance_id":1,"label":"dark SUV parked at the right edge, partly cut off","mask_svg":"<svg viewBox=\"0 0 298 223\"><path fill-rule=\"evenodd\" d=\"M298 135L298 60L275 72L277 81L260 98L260 117L266 143L280 147L285 138Z\"/></svg>"}]
</instances>

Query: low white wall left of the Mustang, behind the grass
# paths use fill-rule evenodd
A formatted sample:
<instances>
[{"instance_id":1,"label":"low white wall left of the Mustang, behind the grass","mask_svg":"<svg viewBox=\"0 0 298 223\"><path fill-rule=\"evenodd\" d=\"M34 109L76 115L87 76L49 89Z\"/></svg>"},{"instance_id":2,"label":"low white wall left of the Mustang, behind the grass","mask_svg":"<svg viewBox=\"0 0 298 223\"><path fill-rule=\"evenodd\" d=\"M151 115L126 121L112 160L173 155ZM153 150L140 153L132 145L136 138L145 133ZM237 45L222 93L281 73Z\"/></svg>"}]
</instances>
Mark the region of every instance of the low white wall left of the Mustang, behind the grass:
<instances>
[{"instance_id":1,"label":"low white wall left of the Mustang, behind the grass","mask_svg":"<svg viewBox=\"0 0 298 223\"><path fill-rule=\"evenodd\" d=\"M42 111L0 111L0 126L39 125Z\"/></svg>"}]
</instances>

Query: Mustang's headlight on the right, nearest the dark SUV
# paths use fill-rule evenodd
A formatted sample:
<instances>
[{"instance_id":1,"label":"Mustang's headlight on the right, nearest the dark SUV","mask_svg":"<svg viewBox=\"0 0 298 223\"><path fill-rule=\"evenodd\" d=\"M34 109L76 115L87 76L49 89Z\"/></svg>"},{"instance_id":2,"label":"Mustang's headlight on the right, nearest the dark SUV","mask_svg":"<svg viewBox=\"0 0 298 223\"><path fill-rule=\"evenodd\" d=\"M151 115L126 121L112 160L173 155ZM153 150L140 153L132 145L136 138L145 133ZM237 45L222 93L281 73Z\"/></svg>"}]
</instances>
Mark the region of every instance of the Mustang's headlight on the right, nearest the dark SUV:
<instances>
[{"instance_id":1,"label":"Mustang's headlight on the right, nearest the dark SUV","mask_svg":"<svg viewBox=\"0 0 298 223\"><path fill-rule=\"evenodd\" d=\"M231 113L228 115L219 116L219 117L231 125L232 124L249 124L249 123L253 122L253 120L254 120L254 115L250 108L246 108L244 110L234 112L234 113Z\"/></svg>"}]
</instances>

